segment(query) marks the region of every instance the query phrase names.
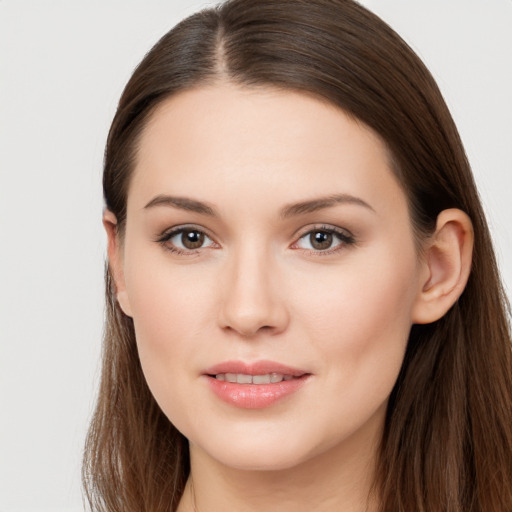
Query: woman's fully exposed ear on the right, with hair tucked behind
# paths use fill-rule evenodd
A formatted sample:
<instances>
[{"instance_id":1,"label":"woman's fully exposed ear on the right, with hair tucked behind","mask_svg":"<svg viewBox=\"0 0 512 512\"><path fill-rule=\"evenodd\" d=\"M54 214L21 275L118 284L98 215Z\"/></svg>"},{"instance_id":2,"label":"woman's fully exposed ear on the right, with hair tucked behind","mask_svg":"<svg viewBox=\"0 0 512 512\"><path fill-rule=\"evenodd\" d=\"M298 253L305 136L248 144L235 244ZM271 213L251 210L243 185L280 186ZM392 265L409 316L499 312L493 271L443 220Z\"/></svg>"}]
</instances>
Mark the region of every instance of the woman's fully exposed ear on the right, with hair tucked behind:
<instances>
[{"instance_id":1,"label":"woman's fully exposed ear on the right, with hair tucked behind","mask_svg":"<svg viewBox=\"0 0 512 512\"><path fill-rule=\"evenodd\" d=\"M449 209L439 214L421 263L421 288L413 307L413 323L439 320L460 297L471 271L473 238L473 225L463 211Z\"/></svg>"}]
</instances>

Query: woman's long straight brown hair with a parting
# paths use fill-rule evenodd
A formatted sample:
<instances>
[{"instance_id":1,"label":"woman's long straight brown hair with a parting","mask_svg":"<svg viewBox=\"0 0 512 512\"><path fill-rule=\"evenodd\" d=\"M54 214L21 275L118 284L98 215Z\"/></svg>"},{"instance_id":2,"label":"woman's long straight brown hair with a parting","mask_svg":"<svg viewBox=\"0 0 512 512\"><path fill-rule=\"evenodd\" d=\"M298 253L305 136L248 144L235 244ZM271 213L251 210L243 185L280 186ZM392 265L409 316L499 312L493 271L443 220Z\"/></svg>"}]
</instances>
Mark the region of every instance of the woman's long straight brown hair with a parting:
<instances>
[{"instance_id":1,"label":"woman's long straight brown hair with a parting","mask_svg":"<svg viewBox=\"0 0 512 512\"><path fill-rule=\"evenodd\" d=\"M323 98L386 142L418 237L460 208L475 248L466 289L439 321L415 325L392 391L375 490L385 512L512 510L508 303L457 129L432 76L382 20L352 0L229 0L178 24L128 82L109 133L106 207L122 235L137 142L154 109L217 80ZM132 320L106 271L103 372L85 448L94 511L173 511L186 439L142 374Z\"/></svg>"}]
</instances>

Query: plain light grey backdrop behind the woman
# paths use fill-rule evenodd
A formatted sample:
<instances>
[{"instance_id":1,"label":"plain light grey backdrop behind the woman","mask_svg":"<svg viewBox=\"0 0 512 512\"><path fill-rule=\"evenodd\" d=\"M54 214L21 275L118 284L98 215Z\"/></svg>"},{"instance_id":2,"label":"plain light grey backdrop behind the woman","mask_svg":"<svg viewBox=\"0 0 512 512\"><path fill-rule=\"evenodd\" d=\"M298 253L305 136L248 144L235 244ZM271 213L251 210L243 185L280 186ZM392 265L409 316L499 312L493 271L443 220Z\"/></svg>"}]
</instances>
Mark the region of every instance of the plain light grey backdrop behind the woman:
<instances>
[{"instance_id":1,"label":"plain light grey backdrop behind the woman","mask_svg":"<svg viewBox=\"0 0 512 512\"><path fill-rule=\"evenodd\" d=\"M362 3L438 80L510 291L512 0ZM83 510L103 316L104 142L135 65L206 5L0 0L0 512Z\"/></svg>"}]
</instances>

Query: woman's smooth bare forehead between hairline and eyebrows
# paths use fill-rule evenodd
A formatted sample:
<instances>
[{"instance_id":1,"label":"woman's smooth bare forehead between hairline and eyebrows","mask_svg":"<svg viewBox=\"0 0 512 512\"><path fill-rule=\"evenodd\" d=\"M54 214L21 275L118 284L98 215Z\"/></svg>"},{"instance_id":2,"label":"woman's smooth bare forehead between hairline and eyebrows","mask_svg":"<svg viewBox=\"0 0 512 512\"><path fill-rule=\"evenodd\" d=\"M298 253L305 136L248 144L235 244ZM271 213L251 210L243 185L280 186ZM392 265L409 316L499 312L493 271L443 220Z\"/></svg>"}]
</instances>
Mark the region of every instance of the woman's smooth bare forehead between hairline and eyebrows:
<instances>
[{"instance_id":1,"label":"woman's smooth bare forehead between hairline and eyebrows","mask_svg":"<svg viewBox=\"0 0 512 512\"><path fill-rule=\"evenodd\" d=\"M373 130L326 101L223 83L180 92L155 110L129 202L192 192L224 203L234 194L267 203L329 193L375 200L379 190L393 199L403 193L389 162Z\"/></svg>"}]
</instances>

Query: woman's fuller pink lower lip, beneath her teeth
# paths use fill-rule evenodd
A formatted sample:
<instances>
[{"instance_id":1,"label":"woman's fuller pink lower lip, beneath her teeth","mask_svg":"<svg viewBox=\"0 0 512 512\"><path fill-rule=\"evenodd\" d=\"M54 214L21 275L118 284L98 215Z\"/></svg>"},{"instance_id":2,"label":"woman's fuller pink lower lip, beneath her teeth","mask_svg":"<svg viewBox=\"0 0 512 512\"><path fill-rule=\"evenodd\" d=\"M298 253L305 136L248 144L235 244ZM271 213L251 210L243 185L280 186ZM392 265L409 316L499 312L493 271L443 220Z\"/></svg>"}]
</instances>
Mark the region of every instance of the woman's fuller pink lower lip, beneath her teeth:
<instances>
[{"instance_id":1,"label":"woman's fuller pink lower lip, beneath her teeth","mask_svg":"<svg viewBox=\"0 0 512 512\"><path fill-rule=\"evenodd\" d=\"M264 409L298 391L309 375L272 384L238 384L207 376L212 391L224 402L241 409Z\"/></svg>"}]
</instances>

